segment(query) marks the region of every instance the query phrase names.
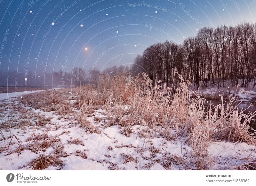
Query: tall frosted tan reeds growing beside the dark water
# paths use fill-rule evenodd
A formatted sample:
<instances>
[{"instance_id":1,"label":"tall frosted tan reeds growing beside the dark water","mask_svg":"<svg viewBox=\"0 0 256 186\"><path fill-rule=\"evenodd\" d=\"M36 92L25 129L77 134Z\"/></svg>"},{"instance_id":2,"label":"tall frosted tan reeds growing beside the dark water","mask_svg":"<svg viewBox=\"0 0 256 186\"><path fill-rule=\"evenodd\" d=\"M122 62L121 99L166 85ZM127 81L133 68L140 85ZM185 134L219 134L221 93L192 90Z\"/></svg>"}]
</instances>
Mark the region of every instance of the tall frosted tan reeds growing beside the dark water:
<instances>
[{"instance_id":1,"label":"tall frosted tan reeds growing beside the dark water","mask_svg":"<svg viewBox=\"0 0 256 186\"><path fill-rule=\"evenodd\" d=\"M132 76L122 73L113 77L103 75L97 86L79 87L78 103L83 113L90 105L103 105L110 123L118 124L129 137L132 125L144 125L167 140L187 137L191 146L190 161L198 169L209 169L213 160L208 154L212 140L255 144L248 129L256 113L239 111L234 100L220 105L204 106L204 100L189 89L188 80L174 71L171 87L159 81L155 86L145 73ZM192 96L193 95L193 96ZM79 116L83 120L83 115ZM91 125L90 125L91 126Z\"/></svg>"}]
</instances>

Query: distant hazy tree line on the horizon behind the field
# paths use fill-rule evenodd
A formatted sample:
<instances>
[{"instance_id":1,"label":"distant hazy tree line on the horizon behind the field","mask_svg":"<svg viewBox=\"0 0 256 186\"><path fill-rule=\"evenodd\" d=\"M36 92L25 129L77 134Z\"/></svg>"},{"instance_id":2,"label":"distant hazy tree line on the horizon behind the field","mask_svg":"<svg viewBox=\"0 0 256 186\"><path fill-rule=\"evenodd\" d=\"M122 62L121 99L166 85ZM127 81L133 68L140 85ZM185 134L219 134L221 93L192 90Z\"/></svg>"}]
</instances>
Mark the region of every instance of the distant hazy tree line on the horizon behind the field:
<instances>
[{"instance_id":1,"label":"distant hazy tree line on the horizon behind the field","mask_svg":"<svg viewBox=\"0 0 256 186\"><path fill-rule=\"evenodd\" d=\"M128 66L112 66L108 67L102 71L97 68L90 69L86 71L81 67L74 67L71 71L62 70L46 73L35 73L28 71L25 76L23 71L16 72L1 72L2 78L0 78L0 86L7 86L7 76L8 76L8 86L9 87L45 87L45 88L67 88L72 86L80 86L84 84L94 83L93 80L98 80L101 74L106 74L108 76L118 75L124 71L130 71ZM26 81L25 81L26 77Z\"/></svg>"}]
</instances>

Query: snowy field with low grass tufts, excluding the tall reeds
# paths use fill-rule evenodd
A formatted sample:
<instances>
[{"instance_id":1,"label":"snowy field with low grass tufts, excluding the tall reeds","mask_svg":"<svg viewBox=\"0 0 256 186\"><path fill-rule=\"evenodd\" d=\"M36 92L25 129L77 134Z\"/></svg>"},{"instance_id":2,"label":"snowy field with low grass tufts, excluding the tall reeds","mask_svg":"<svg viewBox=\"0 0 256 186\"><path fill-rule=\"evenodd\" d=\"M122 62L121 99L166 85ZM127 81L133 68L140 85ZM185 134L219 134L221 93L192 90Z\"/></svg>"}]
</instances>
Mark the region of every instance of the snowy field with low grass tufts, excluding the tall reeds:
<instances>
[{"instance_id":1,"label":"snowy field with low grass tufts, excluding the tall reeds","mask_svg":"<svg viewBox=\"0 0 256 186\"><path fill-rule=\"evenodd\" d=\"M87 120L95 132L88 132L76 121L75 93L63 93L73 111L70 115L44 112L15 97L27 93L0 94L1 170L196 169L186 138L167 140L144 125L134 125L127 133L118 124L109 125L104 107L90 110ZM256 146L216 140L208 153L212 170L233 170L256 158ZM36 162L44 158L51 163L38 167Z\"/></svg>"}]
</instances>

